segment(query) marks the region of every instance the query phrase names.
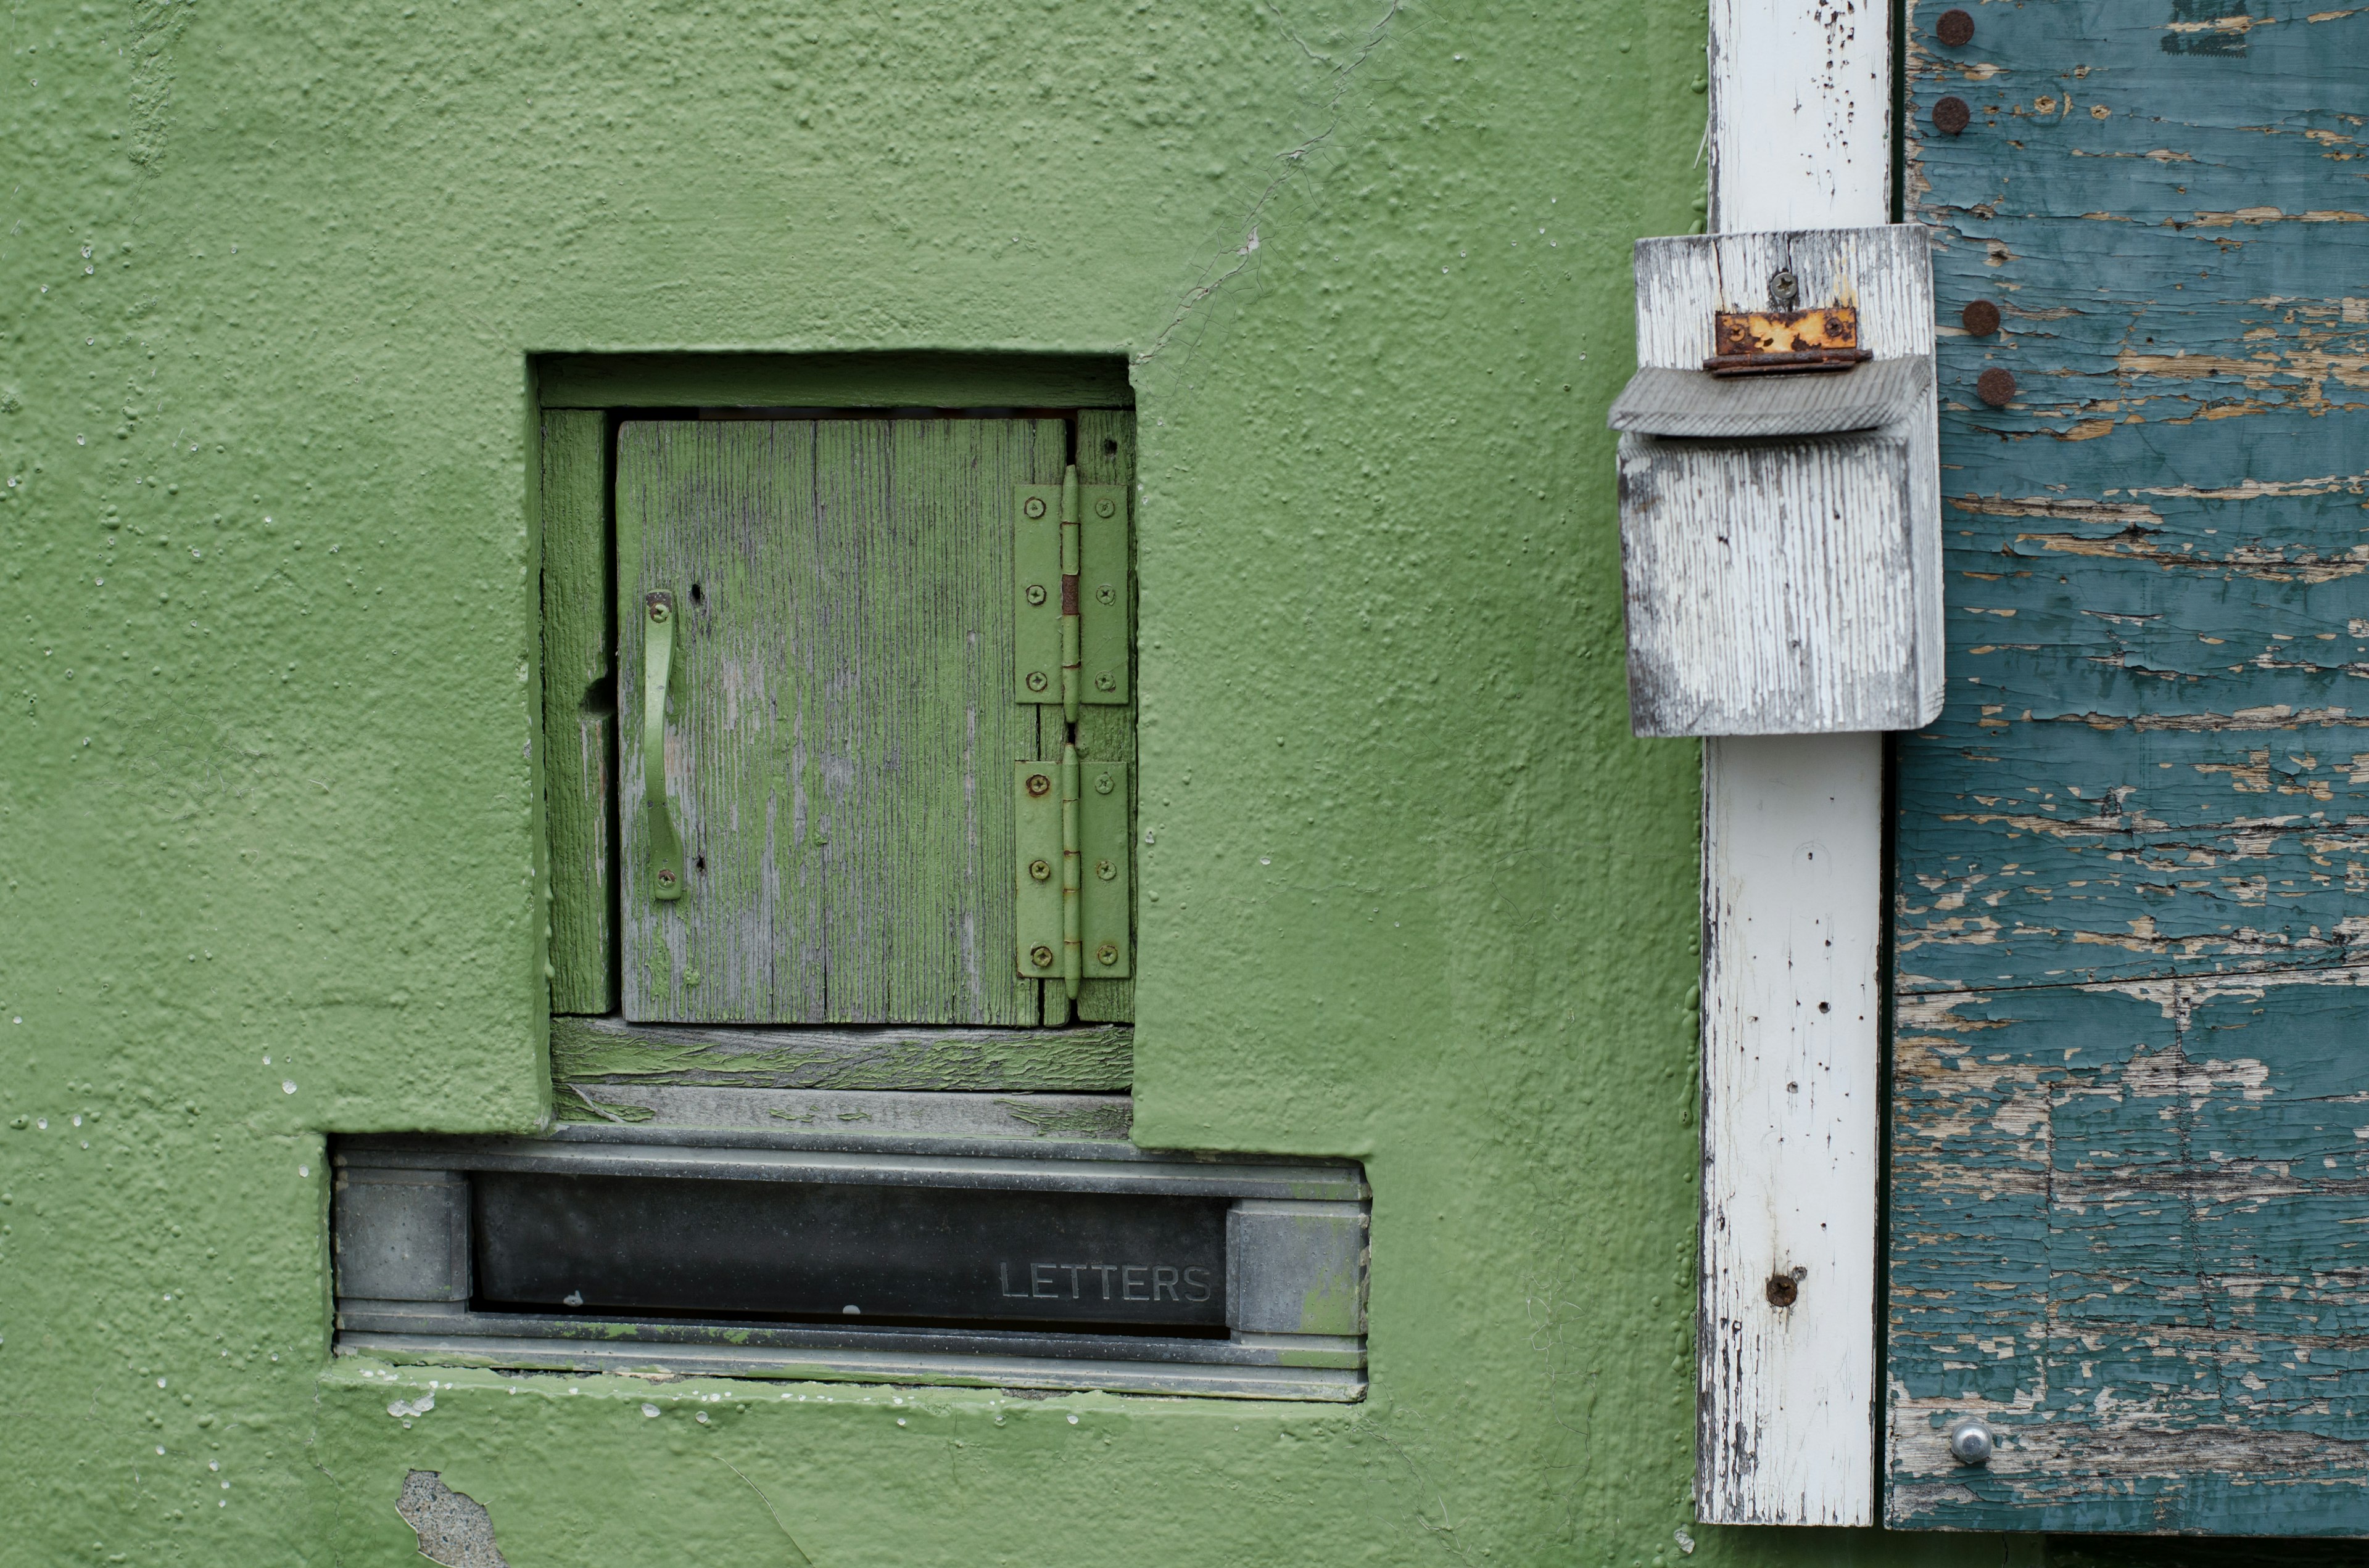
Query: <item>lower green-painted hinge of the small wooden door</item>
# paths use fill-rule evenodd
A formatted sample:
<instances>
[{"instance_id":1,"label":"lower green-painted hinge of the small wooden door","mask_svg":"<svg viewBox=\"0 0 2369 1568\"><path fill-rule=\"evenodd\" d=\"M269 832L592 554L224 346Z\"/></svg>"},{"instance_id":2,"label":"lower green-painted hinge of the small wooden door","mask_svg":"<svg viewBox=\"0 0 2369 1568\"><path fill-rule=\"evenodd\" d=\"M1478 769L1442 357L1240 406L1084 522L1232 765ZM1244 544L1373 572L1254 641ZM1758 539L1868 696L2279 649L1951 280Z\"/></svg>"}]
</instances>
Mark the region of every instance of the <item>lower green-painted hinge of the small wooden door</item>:
<instances>
[{"instance_id":1,"label":"lower green-painted hinge of the small wooden door","mask_svg":"<svg viewBox=\"0 0 2369 1568\"><path fill-rule=\"evenodd\" d=\"M1019 971L1031 981L1128 978L1128 765L1059 763L1012 770L1019 846Z\"/></svg>"}]
</instances>

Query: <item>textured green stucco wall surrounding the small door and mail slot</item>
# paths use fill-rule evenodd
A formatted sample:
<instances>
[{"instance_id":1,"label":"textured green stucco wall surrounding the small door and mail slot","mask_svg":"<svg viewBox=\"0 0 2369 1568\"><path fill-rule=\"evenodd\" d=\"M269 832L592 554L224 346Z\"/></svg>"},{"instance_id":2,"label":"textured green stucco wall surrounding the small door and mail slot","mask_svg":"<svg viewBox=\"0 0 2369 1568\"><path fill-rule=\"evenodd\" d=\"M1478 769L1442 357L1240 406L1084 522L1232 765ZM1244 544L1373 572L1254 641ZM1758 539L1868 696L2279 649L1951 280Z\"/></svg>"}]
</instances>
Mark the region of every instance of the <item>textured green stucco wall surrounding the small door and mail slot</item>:
<instances>
[{"instance_id":1,"label":"textured green stucco wall surrounding the small door and mail slot","mask_svg":"<svg viewBox=\"0 0 2369 1568\"><path fill-rule=\"evenodd\" d=\"M434 1469L516 1568L2002 1561L1689 1523L1601 412L1701 5L0 26L0 1559L417 1561ZM322 1135L545 1111L531 355L606 348L1142 355L1137 1132L1369 1163L1367 1405L332 1367Z\"/></svg>"}]
</instances>

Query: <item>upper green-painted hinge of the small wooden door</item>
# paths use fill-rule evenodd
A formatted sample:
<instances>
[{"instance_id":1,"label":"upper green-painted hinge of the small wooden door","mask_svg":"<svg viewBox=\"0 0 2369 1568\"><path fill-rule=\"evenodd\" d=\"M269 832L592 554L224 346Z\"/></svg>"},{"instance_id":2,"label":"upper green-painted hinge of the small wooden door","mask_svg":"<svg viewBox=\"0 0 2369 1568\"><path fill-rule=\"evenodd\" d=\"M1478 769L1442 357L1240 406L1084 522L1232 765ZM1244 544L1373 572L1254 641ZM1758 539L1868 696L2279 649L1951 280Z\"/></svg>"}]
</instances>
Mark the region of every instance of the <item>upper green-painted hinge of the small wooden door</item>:
<instances>
[{"instance_id":1,"label":"upper green-painted hinge of the small wooden door","mask_svg":"<svg viewBox=\"0 0 2369 1568\"><path fill-rule=\"evenodd\" d=\"M1059 486L1012 493L1012 699L1125 703L1135 595L1128 592L1128 488Z\"/></svg>"}]
</instances>

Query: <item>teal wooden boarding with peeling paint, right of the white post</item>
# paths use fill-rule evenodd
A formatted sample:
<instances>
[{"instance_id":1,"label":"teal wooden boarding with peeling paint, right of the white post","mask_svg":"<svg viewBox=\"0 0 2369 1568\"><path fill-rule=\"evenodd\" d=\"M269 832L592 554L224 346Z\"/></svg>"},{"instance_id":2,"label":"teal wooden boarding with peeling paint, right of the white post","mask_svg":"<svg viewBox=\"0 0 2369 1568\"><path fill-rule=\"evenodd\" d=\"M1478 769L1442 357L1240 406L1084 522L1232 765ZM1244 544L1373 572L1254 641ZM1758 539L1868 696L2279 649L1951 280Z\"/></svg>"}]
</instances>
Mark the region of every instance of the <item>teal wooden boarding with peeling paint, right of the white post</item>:
<instances>
[{"instance_id":1,"label":"teal wooden boarding with peeling paint, right of the white post","mask_svg":"<svg viewBox=\"0 0 2369 1568\"><path fill-rule=\"evenodd\" d=\"M1983 5L1952 50L1950 5L1909 45L1950 703L1898 753L1888 1514L2369 1532L2369 14Z\"/></svg>"}]
</instances>

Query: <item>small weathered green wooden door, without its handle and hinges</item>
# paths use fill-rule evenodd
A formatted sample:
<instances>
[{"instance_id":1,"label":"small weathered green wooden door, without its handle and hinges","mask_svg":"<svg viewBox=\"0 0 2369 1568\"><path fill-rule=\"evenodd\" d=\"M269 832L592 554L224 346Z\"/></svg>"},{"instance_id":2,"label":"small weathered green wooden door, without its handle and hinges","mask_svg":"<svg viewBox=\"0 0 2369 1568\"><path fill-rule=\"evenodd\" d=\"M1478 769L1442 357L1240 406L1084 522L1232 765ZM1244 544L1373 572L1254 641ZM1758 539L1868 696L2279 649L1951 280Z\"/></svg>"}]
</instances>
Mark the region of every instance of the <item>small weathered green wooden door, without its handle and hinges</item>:
<instances>
[{"instance_id":1,"label":"small weathered green wooden door, without its handle and hinges","mask_svg":"<svg viewBox=\"0 0 2369 1568\"><path fill-rule=\"evenodd\" d=\"M1057 419L628 422L621 775L642 779L642 618L675 595L656 902L621 812L623 1011L706 1023L1035 1023L1016 976L1012 486Z\"/></svg>"}]
</instances>

